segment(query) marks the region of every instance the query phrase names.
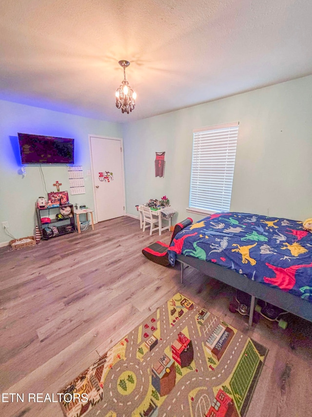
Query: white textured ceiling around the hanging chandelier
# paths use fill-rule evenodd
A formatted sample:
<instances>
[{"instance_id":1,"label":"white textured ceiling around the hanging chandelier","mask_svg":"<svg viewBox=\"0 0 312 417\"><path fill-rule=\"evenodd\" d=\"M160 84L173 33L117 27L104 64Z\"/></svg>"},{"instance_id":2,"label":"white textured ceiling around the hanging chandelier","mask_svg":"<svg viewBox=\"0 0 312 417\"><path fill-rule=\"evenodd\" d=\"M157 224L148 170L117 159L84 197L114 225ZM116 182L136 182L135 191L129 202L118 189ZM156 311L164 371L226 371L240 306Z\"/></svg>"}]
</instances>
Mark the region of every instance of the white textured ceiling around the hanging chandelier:
<instances>
[{"instance_id":1,"label":"white textured ceiling around the hanging chandelier","mask_svg":"<svg viewBox=\"0 0 312 417\"><path fill-rule=\"evenodd\" d=\"M4 100L123 123L308 74L311 0L0 2Z\"/></svg>"}]
</instances>

